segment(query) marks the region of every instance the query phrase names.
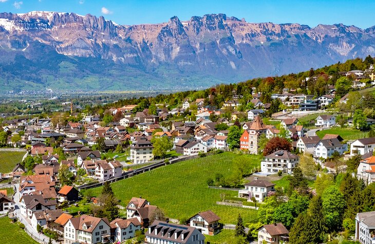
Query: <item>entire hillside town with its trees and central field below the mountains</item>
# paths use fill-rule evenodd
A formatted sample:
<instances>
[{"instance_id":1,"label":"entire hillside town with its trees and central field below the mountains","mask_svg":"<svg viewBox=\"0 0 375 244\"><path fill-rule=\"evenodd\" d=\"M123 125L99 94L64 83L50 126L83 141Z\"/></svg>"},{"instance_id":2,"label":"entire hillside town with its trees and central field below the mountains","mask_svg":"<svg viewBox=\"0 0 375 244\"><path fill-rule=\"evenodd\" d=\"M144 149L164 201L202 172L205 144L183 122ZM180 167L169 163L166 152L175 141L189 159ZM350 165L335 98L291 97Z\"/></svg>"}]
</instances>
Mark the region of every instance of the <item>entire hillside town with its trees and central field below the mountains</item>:
<instances>
[{"instance_id":1,"label":"entire hillside town with its trees and central field below the mountains","mask_svg":"<svg viewBox=\"0 0 375 244\"><path fill-rule=\"evenodd\" d=\"M0 227L30 243L375 243L373 64L7 100Z\"/></svg>"}]
</instances>

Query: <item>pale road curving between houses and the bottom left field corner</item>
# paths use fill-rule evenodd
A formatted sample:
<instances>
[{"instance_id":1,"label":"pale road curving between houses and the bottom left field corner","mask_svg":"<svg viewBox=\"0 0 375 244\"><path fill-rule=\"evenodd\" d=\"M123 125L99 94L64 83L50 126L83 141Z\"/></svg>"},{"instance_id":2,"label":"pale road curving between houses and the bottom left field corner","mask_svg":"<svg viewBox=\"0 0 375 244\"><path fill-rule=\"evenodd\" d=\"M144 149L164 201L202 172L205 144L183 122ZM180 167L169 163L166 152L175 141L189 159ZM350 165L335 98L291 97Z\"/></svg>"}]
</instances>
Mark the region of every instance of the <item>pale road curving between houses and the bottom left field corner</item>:
<instances>
[{"instance_id":1,"label":"pale road curving between houses and the bottom left field corner","mask_svg":"<svg viewBox=\"0 0 375 244\"><path fill-rule=\"evenodd\" d=\"M47 244L49 241L49 237L44 234L37 233L36 230L32 228L30 219L27 219L25 216L21 214L21 211L20 211L21 196L20 196L20 192L18 191L20 184L15 184L14 186L16 189L16 193L14 194L14 197L13 197L13 200L15 202L14 214L17 216L18 220L20 220L20 222L25 225L25 231L29 236L31 236L34 240L36 240L39 243ZM60 244L60 242L57 242L55 240L52 240L52 243Z\"/></svg>"}]
</instances>

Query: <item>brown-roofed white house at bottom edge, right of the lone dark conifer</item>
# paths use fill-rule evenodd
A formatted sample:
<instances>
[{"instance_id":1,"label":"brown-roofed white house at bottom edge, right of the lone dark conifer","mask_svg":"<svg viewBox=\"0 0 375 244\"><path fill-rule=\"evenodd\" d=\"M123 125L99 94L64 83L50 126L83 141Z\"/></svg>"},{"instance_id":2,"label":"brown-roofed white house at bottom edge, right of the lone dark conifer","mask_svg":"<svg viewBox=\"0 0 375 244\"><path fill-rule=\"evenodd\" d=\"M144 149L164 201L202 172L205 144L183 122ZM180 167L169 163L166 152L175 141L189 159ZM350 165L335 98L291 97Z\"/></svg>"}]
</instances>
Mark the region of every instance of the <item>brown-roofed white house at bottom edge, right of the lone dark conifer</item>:
<instances>
[{"instance_id":1,"label":"brown-roofed white house at bottom edge, right of the lone dark conifer","mask_svg":"<svg viewBox=\"0 0 375 244\"><path fill-rule=\"evenodd\" d=\"M258 231L258 244L264 241L270 244L287 243L289 231L282 223L271 223L262 226Z\"/></svg>"}]
</instances>

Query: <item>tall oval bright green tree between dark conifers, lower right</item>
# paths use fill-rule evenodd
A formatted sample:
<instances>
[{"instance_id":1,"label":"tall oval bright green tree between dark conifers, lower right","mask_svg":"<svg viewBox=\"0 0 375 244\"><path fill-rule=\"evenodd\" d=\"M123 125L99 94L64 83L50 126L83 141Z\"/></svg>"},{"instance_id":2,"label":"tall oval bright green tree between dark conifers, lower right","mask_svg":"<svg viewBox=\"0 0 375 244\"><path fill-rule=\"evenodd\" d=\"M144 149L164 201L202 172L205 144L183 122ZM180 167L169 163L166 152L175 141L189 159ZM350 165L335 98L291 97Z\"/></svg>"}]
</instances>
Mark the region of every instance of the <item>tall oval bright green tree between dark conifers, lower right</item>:
<instances>
[{"instance_id":1,"label":"tall oval bright green tree between dark conifers, lower right","mask_svg":"<svg viewBox=\"0 0 375 244\"><path fill-rule=\"evenodd\" d=\"M336 186L330 186L323 192L323 214L329 230L334 231L341 227L345 205L344 195Z\"/></svg>"}]
</instances>

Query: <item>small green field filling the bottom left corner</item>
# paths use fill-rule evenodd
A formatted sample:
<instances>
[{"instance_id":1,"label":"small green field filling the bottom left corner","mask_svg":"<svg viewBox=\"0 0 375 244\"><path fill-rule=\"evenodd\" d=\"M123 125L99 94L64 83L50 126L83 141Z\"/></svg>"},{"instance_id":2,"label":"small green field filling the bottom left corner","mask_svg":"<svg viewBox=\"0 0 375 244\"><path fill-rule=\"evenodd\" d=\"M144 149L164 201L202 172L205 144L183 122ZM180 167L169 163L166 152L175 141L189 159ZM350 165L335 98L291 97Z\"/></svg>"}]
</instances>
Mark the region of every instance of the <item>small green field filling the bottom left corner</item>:
<instances>
[{"instance_id":1,"label":"small green field filling the bottom left corner","mask_svg":"<svg viewBox=\"0 0 375 244\"><path fill-rule=\"evenodd\" d=\"M12 223L8 217L0 218L0 240L2 243L37 244L16 223Z\"/></svg>"}]
</instances>

